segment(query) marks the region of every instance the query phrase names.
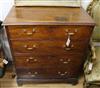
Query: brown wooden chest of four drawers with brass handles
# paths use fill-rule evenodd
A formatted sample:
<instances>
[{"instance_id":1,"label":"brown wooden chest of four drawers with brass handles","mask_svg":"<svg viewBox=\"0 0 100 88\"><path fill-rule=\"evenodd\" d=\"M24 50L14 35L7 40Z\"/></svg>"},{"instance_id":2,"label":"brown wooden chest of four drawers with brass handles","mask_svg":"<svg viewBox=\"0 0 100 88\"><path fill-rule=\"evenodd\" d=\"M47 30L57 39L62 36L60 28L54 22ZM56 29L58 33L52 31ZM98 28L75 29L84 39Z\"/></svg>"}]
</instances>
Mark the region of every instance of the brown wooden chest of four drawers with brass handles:
<instances>
[{"instance_id":1,"label":"brown wooden chest of four drawers with brass handles","mask_svg":"<svg viewBox=\"0 0 100 88\"><path fill-rule=\"evenodd\" d=\"M94 27L82 8L13 7L4 25L18 85L77 83Z\"/></svg>"}]
</instances>

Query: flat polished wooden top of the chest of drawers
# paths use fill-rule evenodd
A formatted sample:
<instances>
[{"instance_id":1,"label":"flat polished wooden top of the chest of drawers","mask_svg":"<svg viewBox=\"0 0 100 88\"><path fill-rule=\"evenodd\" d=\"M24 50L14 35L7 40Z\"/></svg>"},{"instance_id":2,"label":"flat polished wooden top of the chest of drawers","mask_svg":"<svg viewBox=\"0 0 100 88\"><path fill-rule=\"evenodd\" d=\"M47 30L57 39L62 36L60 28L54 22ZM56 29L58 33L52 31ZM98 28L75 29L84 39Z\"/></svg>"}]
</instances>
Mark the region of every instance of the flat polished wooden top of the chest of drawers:
<instances>
[{"instance_id":1,"label":"flat polished wooden top of the chest of drawers","mask_svg":"<svg viewBox=\"0 0 100 88\"><path fill-rule=\"evenodd\" d=\"M83 8L12 7L3 25L94 25Z\"/></svg>"}]
</instances>

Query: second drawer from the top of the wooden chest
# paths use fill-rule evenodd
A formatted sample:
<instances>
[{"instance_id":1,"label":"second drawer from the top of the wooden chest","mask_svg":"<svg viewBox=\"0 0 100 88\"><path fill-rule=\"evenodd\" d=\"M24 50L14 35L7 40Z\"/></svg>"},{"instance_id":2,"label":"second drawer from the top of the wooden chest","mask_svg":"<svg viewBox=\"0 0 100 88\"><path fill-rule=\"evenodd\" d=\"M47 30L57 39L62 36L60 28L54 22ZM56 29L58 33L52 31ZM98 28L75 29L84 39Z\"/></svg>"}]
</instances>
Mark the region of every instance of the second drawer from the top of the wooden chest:
<instances>
[{"instance_id":1,"label":"second drawer from the top of the wooden chest","mask_svg":"<svg viewBox=\"0 0 100 88\"><path fill-rule=\"evenodd\" d=\"M87 41L70 41L69 46L65 41L11 41L12 50L15 53L34 54L63 54L67 52L83 52L87 47Z\"/></svg>"}]
</instances>

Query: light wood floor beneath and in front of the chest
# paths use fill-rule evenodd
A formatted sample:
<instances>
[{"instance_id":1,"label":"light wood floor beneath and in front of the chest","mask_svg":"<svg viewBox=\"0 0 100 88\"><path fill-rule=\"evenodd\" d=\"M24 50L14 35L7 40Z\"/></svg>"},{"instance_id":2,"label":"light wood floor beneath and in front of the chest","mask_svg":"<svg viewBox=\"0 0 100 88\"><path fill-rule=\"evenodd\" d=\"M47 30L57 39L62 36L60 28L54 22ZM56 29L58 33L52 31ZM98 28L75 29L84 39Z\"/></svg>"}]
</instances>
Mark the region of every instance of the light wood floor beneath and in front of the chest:
<instances>
[{"instance_id":1,"label":"light wood floor beneath and in front of the chest","mask_svg":"<svg viewBox=\"0 0 100 88\"><path fill-rule=\"evenodd\" d=\"M18 87L16 78L12 78L11 72L7 72L3 78L0 78L0 88L83 88L83 78L81 77L77 85L71 84L24 84Z\"/></svg>"}]
</instances>

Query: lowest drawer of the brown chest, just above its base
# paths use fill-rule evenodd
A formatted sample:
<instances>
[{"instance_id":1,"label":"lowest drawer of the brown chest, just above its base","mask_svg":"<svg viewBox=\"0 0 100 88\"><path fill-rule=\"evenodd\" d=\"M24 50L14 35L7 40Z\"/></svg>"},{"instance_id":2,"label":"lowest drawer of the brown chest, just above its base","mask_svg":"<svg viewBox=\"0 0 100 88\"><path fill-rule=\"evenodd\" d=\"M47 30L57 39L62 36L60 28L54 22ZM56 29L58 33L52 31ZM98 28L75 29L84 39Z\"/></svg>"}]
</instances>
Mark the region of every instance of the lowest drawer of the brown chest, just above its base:
<instances>
[{"instance_id":1,"label":"lowest drawer of the brown chest, just above its base","mask_svg":"<svg viewBox=\"0 0 100 88\"><path fill-rule=\"evenodd\" d=\"M16 70L17 77L19 78L38 78L38 79L45 79L45 78L63 78L66 79L68 77L75 77L77 73L74 70L70 71L69 69L62 69L62 68L37 68L37 69L18 69Z\"/></svg>"}]
</instances>

